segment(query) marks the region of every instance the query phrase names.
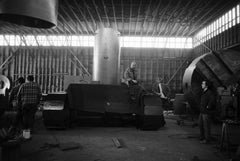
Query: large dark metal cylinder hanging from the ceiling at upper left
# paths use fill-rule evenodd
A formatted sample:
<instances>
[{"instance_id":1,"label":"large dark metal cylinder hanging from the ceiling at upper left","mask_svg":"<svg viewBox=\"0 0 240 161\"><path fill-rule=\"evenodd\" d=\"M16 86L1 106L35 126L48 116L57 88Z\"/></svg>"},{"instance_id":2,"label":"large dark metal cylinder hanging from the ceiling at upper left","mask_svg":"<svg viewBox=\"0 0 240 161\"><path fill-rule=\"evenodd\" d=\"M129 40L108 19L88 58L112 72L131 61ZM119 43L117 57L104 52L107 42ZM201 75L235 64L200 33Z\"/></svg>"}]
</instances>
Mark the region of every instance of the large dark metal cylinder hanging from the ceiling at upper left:
<instances>
[{"instance_id":1,"label":"large dark metal cylinder hanging from the ceiling at upper left","mask_svg":"<svg viewBox=\"0 0 240 161\"><path fill-rule=\"evenodd\" d=\"M58 0L2 0L0 20L36 28L57 25Z\"/></svg>"}]
</instances>

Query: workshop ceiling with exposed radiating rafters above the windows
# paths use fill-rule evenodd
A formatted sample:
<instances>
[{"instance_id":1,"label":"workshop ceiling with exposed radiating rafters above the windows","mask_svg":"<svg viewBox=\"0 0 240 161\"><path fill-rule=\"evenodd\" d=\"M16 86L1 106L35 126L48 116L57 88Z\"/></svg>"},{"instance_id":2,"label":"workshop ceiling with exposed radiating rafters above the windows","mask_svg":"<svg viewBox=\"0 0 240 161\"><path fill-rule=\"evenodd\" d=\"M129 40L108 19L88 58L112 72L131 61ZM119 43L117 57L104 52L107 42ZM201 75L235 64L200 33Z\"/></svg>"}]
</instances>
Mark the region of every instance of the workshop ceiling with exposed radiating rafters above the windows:
<instances>
[{"instance_id":1,"label":"workshop ceiling with exposed radiating rafters above the windows","mask_svg":"<svg viewBox=\"0 0 240 161\"><path fill-rule=\"evenodd\" d=\"M239 0L59 0L58 25L37 29L0 21L0 34L94 35L99 27L121 36L193 36Z\"/></svg>"}]
</instances>

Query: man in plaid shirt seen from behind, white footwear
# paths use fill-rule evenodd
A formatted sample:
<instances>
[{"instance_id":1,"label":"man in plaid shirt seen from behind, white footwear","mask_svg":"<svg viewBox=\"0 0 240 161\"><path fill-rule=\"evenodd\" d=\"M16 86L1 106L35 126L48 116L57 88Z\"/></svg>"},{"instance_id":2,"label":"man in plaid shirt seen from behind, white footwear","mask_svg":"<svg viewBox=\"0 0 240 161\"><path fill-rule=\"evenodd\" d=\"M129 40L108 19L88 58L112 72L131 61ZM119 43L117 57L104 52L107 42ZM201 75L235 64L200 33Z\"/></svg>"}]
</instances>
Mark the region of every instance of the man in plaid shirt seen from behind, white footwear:
<instances>
[{"instance_id":1,"label":"man in plaid shirt seen from behind, white footwear","mask_svg":"<svg viewBox=\"0 0 240 161\"><path fill-rule=\"evenodd\" d=\"M41 98L41 89L39 85L34 82L32 75L29 75L27 82L21 85L17 97L23 114L23 138L30 139L34 116Z\"/></svg>"}]
</instances>

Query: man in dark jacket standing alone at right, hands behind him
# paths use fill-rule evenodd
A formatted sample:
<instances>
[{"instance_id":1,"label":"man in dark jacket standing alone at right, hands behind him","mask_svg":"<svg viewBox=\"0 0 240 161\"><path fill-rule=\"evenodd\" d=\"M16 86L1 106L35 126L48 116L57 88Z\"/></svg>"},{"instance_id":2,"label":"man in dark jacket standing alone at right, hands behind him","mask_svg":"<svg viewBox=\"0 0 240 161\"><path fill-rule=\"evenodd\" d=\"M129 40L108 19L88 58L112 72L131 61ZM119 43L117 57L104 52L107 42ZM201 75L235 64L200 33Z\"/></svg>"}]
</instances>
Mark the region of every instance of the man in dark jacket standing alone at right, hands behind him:
<instances>
[{"instance_id":1,"label":"man in dark jacket standing alone at right, hands behind him","mask_svg":"<svg viewBox=\"0 0 240 161\"><path fill-rule=\"evenodd\" d=\"M215 110L215 94L210 90L210 82L202 82L202 95L200 102L199 128L200 140L202 143L209 143L211 140L211 116Z\"/></svg>"}]
</instances>

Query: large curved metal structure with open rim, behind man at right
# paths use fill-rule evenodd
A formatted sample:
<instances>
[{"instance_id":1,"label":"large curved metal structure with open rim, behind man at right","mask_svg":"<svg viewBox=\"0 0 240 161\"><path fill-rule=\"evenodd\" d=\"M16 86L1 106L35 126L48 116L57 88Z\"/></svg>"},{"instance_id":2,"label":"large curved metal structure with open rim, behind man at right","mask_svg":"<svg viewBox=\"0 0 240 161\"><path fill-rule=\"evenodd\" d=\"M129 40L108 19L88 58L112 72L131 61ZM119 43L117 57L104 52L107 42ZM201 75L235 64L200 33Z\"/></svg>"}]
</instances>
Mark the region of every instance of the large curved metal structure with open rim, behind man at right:
<instances>
[{"instance_id":1,"label":"large curved metal structure with open rim, behind man at right","mask_svg":"<svg viewBox=\"0 0 240 161\"><path fill-rule=\"evenodd\" d=\"M201 82L209 80L214 87L228 86L240 79L240 52L221 50L196 58L185 70L183 91L192 109L198 111Z\"/></svg>"}]
</instances>

